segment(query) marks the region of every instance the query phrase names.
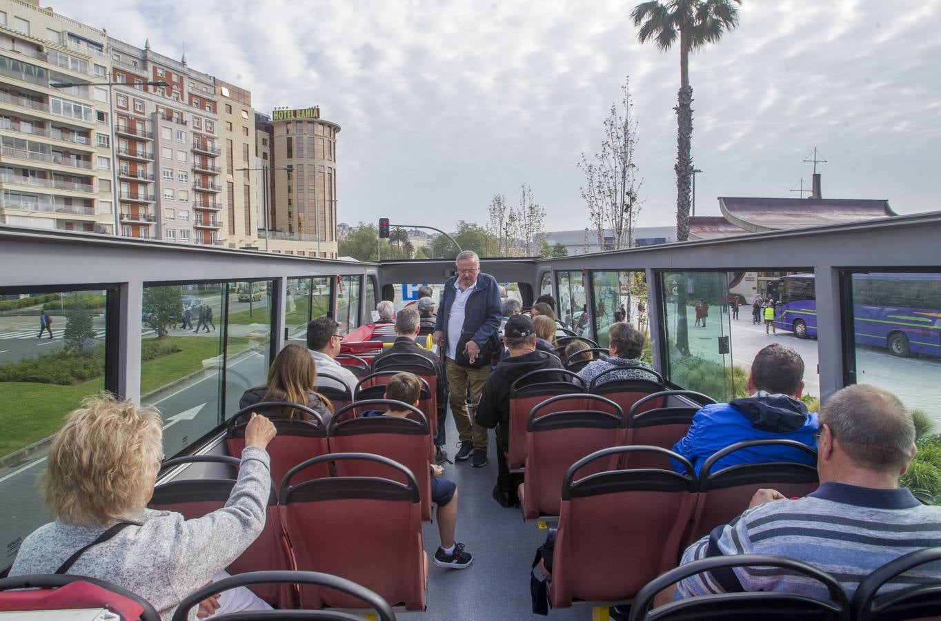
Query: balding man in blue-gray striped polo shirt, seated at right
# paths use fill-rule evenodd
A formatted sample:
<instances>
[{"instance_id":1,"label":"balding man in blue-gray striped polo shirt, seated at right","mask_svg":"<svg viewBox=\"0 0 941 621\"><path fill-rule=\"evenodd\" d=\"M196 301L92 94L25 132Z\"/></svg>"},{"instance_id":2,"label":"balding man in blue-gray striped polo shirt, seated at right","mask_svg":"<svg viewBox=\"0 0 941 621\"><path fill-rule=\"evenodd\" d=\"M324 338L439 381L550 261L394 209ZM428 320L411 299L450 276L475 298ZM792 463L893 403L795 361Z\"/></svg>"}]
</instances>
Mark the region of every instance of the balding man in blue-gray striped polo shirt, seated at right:
<instances>
[{"instance_id":1,"label":"balding man in blue-gray striped polo shirt, seated at right","mask_svg":"<svg viewBox=\"0 0 941 621\"><path fill-rule=\"evenodd\" d=\"M682 563L729 554L779 554L833 575L848 597L859 581L917 549L941 546L941 506L918 502L899 476L915 456L912 415L889 392L856 385L838 391L820 415L817 470L821 486L788 500L759 489L748 510L683 554ZM885 591L941 581L923 565ZM736 567L678 584L677 597L738 591L782 591L827 597L820 582L772 567Z\"/></svg>"}]
</instances>

